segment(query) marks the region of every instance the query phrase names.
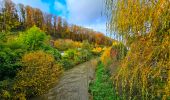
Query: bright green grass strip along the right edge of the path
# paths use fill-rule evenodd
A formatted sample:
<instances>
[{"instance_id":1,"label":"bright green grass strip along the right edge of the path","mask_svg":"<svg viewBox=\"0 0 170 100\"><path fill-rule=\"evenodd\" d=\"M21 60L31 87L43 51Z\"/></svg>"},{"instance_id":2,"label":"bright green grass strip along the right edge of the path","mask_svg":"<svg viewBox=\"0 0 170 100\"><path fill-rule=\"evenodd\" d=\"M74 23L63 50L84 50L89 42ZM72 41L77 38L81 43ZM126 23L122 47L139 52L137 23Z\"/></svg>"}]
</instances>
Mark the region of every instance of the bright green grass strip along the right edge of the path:
<instances>
[{"instance_id":1,"label":"bright green grass strip along the right edge of the path","mask_svg":"<svg viewBox=\"0 0 170 100\"><path fill-rule=\"evenodd\" d=\"M118 100L110 74L101 62L97 66L96 79L90 84L89 91L93 100Z\"/></svg>"}]
</instances>

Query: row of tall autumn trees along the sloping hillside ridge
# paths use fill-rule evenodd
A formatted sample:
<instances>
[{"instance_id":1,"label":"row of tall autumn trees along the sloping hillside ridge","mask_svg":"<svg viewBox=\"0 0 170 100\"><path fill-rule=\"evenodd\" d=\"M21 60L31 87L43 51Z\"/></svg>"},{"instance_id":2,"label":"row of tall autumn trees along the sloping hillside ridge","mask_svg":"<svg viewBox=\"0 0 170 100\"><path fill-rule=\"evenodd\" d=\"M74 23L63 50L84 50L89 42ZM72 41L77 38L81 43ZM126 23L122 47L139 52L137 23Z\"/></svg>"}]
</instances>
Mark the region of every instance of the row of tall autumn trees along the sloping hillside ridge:
<instances>
[{"instance_id":1,"label":"row of tall autumn trees along the sloping hillside ridge","mask_svg":"<svg viewBox=\"0 0 170 100\"><path fill-rule=\"evenodd\" d=\"M88 40L90 43L111 45L112 39L100 32L69 25L59 16L47 14L38 8L15 4L11 0L0 1L0 31L24 31L36 25L54 39L72 39L74 41Z\"/></svg>"}]
</instances>

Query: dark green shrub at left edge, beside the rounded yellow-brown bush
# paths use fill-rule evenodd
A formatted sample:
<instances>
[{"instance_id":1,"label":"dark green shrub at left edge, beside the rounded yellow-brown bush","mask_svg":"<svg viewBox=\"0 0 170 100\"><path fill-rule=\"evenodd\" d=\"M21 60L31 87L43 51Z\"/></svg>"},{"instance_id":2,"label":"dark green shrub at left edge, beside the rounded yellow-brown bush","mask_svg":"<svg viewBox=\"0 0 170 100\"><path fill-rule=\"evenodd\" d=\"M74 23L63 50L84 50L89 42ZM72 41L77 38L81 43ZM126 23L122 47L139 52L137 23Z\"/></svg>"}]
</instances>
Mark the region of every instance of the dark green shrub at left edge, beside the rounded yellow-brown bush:
<instances>
[{"instance_id":1,"label":"dark green shrub at left edge, beside the rounded yellow-brown bush","mask_svg":"<svg viewBox=\"0 0 170 100\"><path fill-rule=\"evenodd\" d=\"M0 80L13 78L20 68L20 58L25 52L24 45L15 42L3 42L0 48Z\"/></svg>"}]
</instances>

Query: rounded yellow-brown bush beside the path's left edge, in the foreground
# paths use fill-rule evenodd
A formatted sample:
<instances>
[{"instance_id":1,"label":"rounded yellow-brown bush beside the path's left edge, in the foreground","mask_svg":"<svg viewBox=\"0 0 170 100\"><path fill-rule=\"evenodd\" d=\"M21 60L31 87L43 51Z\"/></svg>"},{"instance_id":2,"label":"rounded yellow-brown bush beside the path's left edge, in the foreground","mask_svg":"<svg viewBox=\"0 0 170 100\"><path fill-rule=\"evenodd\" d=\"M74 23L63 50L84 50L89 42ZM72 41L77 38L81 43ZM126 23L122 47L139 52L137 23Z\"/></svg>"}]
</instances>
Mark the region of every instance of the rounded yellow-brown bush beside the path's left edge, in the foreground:
<instances>
[{"instance_id":1,"label":"rounded yellow-brown bush beside the path's left edge, in the foreground","mask_svg":"<svg viewBox=\"0 0 170 100\"><path fill-rule=\"evenodd\" d=\"M14 84L16 99L20 99L17 95L30 97L45 93L62 73L54 57L43 51L25 54L22 63L23 68L17 73Z\"/></svg>"}]
</instances>

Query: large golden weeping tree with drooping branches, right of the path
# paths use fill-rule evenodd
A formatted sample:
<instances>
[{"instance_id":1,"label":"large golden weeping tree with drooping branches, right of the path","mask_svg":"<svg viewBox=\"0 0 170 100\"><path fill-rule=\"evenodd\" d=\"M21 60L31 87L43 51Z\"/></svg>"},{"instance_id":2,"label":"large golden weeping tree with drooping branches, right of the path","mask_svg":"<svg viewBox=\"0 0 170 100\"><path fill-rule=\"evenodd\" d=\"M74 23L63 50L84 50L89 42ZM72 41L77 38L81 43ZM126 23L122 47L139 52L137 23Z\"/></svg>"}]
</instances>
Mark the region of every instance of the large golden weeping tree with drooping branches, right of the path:
<instances>
[{"instance_id":1,"label":"large golden weeping tree with drooping branches, right of the path","mask_svg":"<svg viewBox=\"0 0 170 100\"><path fill-rule=\"evenodd\" d=\"M106 5L108 29L130 48L115 77L118 95L124 100L168 100L169 0L108 0Z\"/></svg>"}]
</instances>

